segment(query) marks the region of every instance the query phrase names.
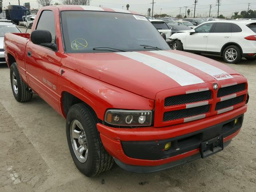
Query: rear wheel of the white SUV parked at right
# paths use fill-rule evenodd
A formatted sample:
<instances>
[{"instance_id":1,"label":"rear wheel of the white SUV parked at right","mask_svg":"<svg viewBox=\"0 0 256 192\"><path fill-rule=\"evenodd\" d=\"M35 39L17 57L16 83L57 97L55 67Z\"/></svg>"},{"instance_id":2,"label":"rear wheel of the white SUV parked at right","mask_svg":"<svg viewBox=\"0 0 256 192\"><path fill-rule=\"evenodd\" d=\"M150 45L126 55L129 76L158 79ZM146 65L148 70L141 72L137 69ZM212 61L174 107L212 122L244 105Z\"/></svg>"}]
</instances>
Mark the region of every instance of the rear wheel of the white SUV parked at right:
<instances>
[{"instance_id":1,"label":"rear wheel of the white SUV parked at right","mask_svg":"<svg viewBox=\"0 0 256 192\"><path fill-rule=\"evenodd\" d=\"M236 64L242 59L242 52L238 46L230 45L224 49L223 60L226 63Z\"/></svg>"}]
</instances>

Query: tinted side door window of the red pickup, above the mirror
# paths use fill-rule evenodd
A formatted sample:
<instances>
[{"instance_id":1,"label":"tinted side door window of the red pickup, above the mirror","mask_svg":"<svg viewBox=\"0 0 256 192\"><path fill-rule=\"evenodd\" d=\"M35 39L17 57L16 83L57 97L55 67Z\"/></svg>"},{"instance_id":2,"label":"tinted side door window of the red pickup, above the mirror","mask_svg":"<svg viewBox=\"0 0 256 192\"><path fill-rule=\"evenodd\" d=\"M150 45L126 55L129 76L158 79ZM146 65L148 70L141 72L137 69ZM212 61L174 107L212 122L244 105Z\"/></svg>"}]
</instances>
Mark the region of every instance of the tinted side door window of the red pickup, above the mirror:
<instances>
[{"instance_id":1,"label":"tinted side door window of the red pickup, above the mirror","mask_svg":"<svg viewBox=\"0 0 256 192\"><path fill-rule=\"evenodd\" d=\"M36 30L48 30L52 34L52 43L55 42L56 31L55 31L55 21L54 21L54 13L49 10L45 10L42 12L38 24L36 26Z\"/></svg>"}]
</instances>

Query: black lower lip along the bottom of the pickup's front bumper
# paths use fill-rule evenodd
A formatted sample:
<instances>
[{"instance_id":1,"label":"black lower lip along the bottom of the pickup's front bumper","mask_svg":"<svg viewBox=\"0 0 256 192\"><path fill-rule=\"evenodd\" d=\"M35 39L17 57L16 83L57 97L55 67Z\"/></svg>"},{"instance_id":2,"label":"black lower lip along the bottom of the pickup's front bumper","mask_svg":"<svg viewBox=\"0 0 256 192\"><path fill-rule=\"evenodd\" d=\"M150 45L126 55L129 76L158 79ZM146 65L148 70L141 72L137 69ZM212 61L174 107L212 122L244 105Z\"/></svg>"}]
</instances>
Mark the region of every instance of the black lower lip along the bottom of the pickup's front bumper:
<instances>
[{"instance_id":1,"label":"black lower lip along the bottom of the pickup's front bumper","mask_svg":"<svg viewBox=\"0 0 256 192\"><path fill-rule=\"evenodd\" d=\"M228 146L230 144L231 140L228 142L224 143L224 147ZM201 158L201 154L197 153L194 154L192 156L183 158L181 160L177 160L174 162L170 162L167 164L163 164L163 165L159 165L159 166L136 166L136 165L128 165L128 164L124 164L123 162L119 161L118 159L114 158L116 164L118 166L120 166L120 168L129 171L129 172L133 172L133 173L153 173L153 172L158 172L158 171L162 171L162 170L166 170L166 169L170 169L197 159Z\"/></svg>"}]
</instances>

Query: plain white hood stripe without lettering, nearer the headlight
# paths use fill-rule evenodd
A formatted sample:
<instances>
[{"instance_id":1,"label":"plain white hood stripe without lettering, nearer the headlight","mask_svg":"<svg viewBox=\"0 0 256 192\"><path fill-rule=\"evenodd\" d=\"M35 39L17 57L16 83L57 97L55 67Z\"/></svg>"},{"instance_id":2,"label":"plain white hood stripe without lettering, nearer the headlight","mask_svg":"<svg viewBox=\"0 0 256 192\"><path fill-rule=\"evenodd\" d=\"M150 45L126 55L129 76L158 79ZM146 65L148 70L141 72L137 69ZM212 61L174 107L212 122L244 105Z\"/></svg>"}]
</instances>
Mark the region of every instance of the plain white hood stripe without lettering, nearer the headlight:
<instances>
[{"instance_id":1,"label":"plain white hood stripe without lettering, nearer the headlight","mask_svg":"<svg viewBox=\"0 0 256 192\"><path fill-rule=\"evenodd\" d=\"M202 79L191 74L190 72L187 72L186 70L183 70L182 68L179 68L173 64L170 64L152 56L148 56L146 54L138 52L116 52L116 54L144 63L147 66L158 70L159 72L172 78L181 86L204 83Z\"/></svg>"}]
</instances>

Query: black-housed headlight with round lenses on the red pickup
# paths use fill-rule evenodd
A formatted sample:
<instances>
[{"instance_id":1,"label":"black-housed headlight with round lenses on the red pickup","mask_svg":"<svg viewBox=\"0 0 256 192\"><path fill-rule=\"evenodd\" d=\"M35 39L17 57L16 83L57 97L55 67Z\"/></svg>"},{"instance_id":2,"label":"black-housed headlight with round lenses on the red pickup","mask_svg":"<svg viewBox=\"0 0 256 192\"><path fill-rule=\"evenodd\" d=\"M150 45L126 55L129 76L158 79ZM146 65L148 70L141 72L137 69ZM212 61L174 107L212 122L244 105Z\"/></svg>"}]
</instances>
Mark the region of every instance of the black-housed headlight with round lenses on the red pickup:
<instances>
[{"instance_id":1,"label":"black-housed headlight with round lenses on the red pickup","mask_svg":"<svg viewBox=\"0 0 256 192\"><path fill-rule=\"evenodd\" d=\"M150 126L152 111L109 109L105 114L105 122L118 126Z\"/></svg>"}]
</instances>

